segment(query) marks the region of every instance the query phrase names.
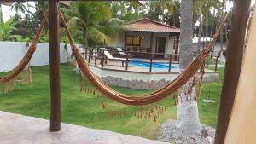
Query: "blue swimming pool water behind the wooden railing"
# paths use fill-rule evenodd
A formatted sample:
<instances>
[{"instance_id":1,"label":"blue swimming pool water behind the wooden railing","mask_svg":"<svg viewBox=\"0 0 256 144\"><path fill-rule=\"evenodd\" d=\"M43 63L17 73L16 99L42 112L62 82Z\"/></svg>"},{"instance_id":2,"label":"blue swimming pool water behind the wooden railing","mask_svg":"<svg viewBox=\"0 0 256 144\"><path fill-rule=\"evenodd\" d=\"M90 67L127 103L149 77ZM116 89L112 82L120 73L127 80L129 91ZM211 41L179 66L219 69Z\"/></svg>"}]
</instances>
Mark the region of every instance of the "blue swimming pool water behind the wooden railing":
<instances>
[{"instance_id":1,"label":"blue swimming pool water behind the wooden railing","mask_svg":"<svg viewBox=\"0 0 256 144\"><path fill-rule=\"evenodd\" d=\"M143 67L143 68L150 67L150 63L143 61L143 60L132 60L132 61L129 61L129 64L131 64L131 66L138 66L138 67ZM161 62L153 62L152 68L168 69L169 64L161 63ZM179 69L178 64L172 64L171 69Z\"/></svg>"}]
</instances>

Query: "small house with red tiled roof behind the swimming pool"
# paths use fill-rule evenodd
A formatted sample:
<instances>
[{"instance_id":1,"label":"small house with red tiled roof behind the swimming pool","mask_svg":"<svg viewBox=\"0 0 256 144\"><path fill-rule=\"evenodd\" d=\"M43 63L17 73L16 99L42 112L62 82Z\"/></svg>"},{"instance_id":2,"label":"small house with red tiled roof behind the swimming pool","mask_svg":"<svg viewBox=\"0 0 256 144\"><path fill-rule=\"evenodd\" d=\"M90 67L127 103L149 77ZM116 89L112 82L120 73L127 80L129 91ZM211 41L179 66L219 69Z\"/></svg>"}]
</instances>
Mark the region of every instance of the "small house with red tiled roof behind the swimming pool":
<instances>
[{"instance_id":1,"label":"small house with red tiled roof behind the swimming pool","mask_svg":"<svg viewBox=\"0 0 256 144\"><path fill-rule=\"evenodd\" d=\"M178 54L180 30L177 27L143 18L126 23L124 28L125 32L113 39L109 46L121 47L127 51Z\"/></svg>"}]
</instances>

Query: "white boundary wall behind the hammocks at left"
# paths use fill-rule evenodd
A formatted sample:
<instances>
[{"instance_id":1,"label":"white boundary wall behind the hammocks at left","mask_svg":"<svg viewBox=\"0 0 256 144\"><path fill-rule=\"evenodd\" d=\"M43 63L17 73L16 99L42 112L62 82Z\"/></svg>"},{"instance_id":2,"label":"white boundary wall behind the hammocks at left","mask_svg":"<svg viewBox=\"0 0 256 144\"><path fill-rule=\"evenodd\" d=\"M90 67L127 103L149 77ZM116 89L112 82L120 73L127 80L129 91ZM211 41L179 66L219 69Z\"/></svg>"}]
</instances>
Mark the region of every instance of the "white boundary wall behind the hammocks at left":
<instances>
[{"instance_id":1,"label":"white boundary wall behind the hammocks at left","mask_svg":"<svg viewBox=\"0 0 256 144\"><path fill-rule=\"evenodd\" d=\"M31 43L30 43L31 44ZM70 46L64 49L63 43L60 45L61 63L66 63L67 58L72 54ZM17 66L20 60L26 55L26 43L22 42L1 42L0 41L0 72L11 71ZM34 55L32 55L31 66L49 65L49 44L38 43Z\"/></svg>"}]
</instances>

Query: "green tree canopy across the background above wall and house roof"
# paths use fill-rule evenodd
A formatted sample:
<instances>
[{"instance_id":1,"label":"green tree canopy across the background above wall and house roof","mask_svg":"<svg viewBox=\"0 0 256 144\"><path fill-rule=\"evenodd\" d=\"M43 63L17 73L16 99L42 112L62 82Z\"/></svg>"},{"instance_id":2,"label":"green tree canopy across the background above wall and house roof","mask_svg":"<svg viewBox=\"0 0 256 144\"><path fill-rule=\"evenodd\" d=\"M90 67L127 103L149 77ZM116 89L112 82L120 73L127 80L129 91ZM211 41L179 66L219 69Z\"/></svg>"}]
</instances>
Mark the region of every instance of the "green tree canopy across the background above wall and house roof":
<instances>
[{"instance_id":1,"label":"green tree canopy across the background above wall and house roof","mask_svg":"<svg viewBox=\"0 0 256 144\"><path fill-rule=\"evenodd\" d=\"M36 9L34 13L30 11L32 7ZM179 0L146 1L143 6L134 1L87 1L72 2L70 6L61 4L60 7L68 20L68 26L76 42L90 47L108 45L122 31L125 22L132 20L149 18L180 27ZM219 21L224 17L225 7L225 0L193 0L194 36L211 37ZM46 9L48 9L47 1L35 2L34 6L24 2L13 3L11 10L15 11L15 20L12 21L14 29L10 30L9 35L19 37L12 38L12 40L32 41ZM3 21L1 12L0 21ZM228 33L228 29L224 33ZM47 42L47 26L43 36L44 38L40 41ZM66 42L67 37L62 33L61 43Z\"/></svg>"}]
</instances>

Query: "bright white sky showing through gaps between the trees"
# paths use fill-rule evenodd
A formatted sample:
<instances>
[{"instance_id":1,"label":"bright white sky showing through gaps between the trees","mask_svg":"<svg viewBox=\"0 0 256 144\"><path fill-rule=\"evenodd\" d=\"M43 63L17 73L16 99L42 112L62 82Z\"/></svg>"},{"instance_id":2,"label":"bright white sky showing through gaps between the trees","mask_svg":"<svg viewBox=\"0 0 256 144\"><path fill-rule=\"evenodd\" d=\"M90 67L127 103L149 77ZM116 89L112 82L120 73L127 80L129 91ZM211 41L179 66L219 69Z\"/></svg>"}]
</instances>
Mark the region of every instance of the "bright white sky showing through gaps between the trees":
<instances>
[{"instance_id":1,"label":"bright white sky showing through gaps between the trees","mask_svg":"<svg viewBox=\"0 0 256 144\"><path fill-rule=\"evenodd\" d=\"M252 0L252 4L255 3L255 0ZM32 6L34 5L33 2L29 2L29 4L31 4ZM227 10L230 10L232 8L232 2L228 2L227 3ZM35 9L33 8L30 8L30 10L32 11L32 13L35 12ZM5 6L5 5L2 5L2 11L3 11L3 21L7 21L9 20L10 16L14 16L15 15L15 11L12 11L10 10L10 7L9 6ZM23 15L22 17L24 17L25 15Z\"/></svg>"}]
</instances>

